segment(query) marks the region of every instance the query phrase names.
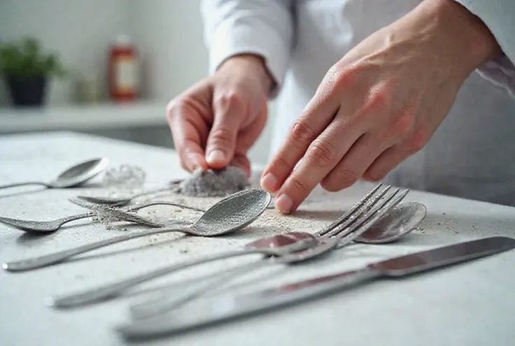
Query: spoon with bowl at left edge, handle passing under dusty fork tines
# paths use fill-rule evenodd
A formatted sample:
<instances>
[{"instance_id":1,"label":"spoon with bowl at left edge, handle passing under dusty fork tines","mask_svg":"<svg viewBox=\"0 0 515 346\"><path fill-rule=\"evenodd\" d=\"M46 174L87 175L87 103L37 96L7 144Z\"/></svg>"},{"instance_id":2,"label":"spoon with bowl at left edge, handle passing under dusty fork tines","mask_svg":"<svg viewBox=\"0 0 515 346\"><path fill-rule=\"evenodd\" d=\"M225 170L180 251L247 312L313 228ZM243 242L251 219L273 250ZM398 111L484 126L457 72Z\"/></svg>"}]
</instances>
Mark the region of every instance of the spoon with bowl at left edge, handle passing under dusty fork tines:
<instances>
[{"instance_id":1,"label":"spoon with bowl at left edge, handle passing under dusty fork tines","mask_svg":"<svg viewBox=\"0 0 515 346\"><path fill-rule=\"evenodd\" d=\"M120 210L122 212L130 212L134 210L140 210L143 208L147 208L150 206L176 206L179 208L185 208L190 210L196 210L204 212L205 210L190 207L190 206L184 206L183 204L179 203L173 203L169 201L150 201L146 203L139 203L135 206L131 206L129 208L125 208L124 210ZM32 221L32 220L24 220L24 219L11 219L10 217L0 217L0 222L3 222L4 224L8 224L10 226L15 226L18 229L21 229L22 231L27 232L34 232L34 233L50 233L53 231L57 231L57 229L61 228L63 224L66 224L68 222L76 221L78 219L85 219L86 217L93 217L95 216L94 212L85 212L83 214L77 214L77 215L70 215L66 217L60 217L59 219L53 219L49 221ZM127 220L129 221L129 220Z\"/></svg>"}]
</instances>

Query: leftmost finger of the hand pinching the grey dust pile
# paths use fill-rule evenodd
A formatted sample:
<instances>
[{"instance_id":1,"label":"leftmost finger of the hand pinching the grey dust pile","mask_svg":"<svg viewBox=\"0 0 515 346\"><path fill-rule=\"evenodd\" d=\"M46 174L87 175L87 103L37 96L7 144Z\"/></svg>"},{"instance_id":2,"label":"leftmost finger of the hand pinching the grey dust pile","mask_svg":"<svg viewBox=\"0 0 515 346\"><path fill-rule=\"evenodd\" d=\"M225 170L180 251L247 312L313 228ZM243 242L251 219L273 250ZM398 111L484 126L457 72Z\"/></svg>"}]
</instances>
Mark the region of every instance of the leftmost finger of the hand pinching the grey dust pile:
<instances>
[{"instance_id":1,"label":"leftmost finger of the hand pinching the grey dust pile","mask_svg":"<svg viewBox=\"0 0 515 346\"><path fill-rule=\"evenodd\" d=\"M209 127L200 117L195 116L194 112L182 103L176 103L167 112L171 136L181 166L190 172L196 168L207 169L202 143L205 142Z\"/></svg>"}]
</instances>

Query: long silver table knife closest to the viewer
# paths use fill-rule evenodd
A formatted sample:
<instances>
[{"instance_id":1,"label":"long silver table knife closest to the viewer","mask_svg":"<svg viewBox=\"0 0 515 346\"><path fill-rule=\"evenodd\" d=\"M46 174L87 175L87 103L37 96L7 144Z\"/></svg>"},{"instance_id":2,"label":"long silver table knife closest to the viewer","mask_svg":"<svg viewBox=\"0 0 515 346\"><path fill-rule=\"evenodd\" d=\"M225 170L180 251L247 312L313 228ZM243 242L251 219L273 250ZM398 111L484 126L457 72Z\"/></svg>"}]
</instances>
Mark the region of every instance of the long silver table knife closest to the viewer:
<instances>
[{"instance_id":1,"label":"long silver table knife closest to the viewer","mask_svg":"<svg viewBox=\"0 0 515 346\"><path fill-rule=\"evenodd\" d=\"M456 243L369 264L353 271L284 284L250 294L216 296L166 315L118 326L125 339L155 338L224 322L338 291L350 284L377 277L403 277L431 269L486 257L515 247L515 239L495 236Z\"/></svg>"}]
</instances>

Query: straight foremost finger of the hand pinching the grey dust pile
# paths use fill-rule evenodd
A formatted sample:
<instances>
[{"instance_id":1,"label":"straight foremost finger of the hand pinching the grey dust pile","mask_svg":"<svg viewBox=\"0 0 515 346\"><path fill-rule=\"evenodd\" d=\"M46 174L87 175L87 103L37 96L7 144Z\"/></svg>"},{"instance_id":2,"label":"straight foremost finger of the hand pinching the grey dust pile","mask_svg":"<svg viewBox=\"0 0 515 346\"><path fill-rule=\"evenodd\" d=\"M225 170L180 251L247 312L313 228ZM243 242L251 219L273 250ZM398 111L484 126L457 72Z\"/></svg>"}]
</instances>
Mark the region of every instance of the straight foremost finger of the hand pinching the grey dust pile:
<instances>
[{"instance_id":1,"label":"straight foremost finger of the hand pinching the grey dust pile","mask_svg":"<svg viewBox=\"0 0 515 346\"><path fill-rule=\"evenodd\" d=\"M237 135L245 112L237 94L223 94L213 102L213 127L206 145L206 162L213 168L227 166L236 148Z\"/></svg>"}]
</instances>

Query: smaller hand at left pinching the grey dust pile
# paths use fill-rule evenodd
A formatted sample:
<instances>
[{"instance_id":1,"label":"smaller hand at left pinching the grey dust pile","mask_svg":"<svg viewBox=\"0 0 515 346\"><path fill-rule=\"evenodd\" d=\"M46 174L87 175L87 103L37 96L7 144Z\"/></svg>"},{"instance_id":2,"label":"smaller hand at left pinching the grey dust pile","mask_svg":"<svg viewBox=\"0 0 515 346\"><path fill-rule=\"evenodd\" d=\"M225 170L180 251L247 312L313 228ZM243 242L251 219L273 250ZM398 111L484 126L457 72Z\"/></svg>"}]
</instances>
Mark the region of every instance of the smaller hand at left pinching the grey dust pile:
<instances>
[{"instance_id":1,"label":"smaller hand at left pinching the grey dust pile","mask_svg":"<svg viewBox=\"0 0 515 346\"><path fill-rule=\"evenodd\" d=\"M271 81L260 57L238 55L171 100L167 120L181 166L234 164L250 175L247 152L267 121Z\"/></svg>"}]
</instances>

